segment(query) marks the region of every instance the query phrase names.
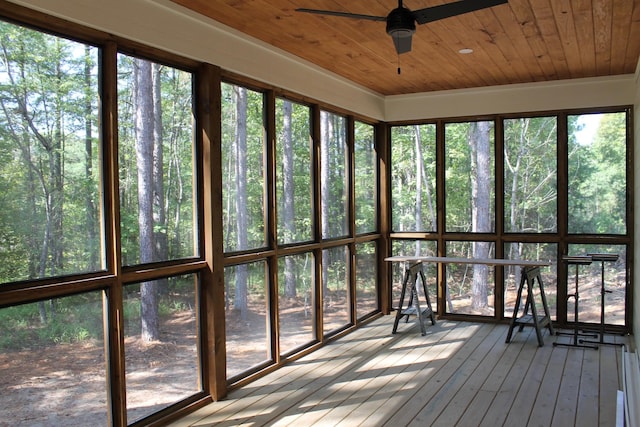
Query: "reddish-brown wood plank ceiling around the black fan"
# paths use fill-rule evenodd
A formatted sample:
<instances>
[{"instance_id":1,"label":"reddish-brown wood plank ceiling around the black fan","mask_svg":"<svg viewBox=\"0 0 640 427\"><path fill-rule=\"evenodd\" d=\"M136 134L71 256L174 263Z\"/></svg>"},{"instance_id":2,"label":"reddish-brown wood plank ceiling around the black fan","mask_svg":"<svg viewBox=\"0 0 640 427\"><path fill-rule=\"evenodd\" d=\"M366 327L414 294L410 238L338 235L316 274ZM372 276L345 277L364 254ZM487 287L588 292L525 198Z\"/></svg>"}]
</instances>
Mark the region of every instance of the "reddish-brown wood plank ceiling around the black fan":
<instances>
[{"instance_id":1,"label":"reddish-brown wood plank ceiling around the black fan","mask_svg":"<svg viewBox=\"0 0 640 427\"><path fill-rule=\"evenodd\" d=\"M295 11L386 16L396 0L172 1L382 95L632 74L640 55L640 0L509 0L418 25L400 56L384 22Z\"/></svg>"}]
</instances>

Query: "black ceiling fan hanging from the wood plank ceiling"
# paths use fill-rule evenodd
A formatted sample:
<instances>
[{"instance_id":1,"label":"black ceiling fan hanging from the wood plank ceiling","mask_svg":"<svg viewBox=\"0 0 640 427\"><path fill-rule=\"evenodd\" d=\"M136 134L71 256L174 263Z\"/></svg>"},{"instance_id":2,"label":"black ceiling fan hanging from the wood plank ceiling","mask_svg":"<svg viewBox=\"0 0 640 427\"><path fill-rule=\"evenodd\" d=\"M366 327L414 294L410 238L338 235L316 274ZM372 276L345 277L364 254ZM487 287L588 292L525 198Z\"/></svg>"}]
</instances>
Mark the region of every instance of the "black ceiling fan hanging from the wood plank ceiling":
<instances>
[{"instance_id":1,"label":"black ceiling fan hanging from the wood plank ceiling","mask_svg":"<svg viewBox=\"0 0 640 427\"><path fill-rule=\"evenodd\" d=\"M411 11L402 5L402 0L398 0L398 7L393 9L386 17L305 8L299 8L296 9L296 11L386 22L387 34L393 39L396 52L401 54L411 51L411 36L413 36L413 33L416 31L416 22L418 24L426 24L444 18L498 6L507 2L508 0L460 0Z\"/></svg>"}]
</instances>

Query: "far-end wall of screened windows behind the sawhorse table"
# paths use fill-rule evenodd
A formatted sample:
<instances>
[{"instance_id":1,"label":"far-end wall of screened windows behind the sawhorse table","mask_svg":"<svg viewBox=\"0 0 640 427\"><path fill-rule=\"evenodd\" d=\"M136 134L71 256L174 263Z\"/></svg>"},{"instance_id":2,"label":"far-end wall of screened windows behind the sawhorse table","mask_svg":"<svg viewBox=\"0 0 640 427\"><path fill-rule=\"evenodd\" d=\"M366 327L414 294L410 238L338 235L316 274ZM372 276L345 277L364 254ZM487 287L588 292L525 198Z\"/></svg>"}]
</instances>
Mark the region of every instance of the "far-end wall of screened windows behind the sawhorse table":
<instances>
[{"instance_id":1,"label":"far-end wall of screened windows behind the sawhorse table","mask_svg":"<svg viewBox=\"0 0 640 427\"><path fill-rule=\"evenodd\" d=\"M580 272L581 297L584 292L584 298L591 301L580 305L580 322L600 323L604 313L607 325L628 328L627 247L632 236L626 221L627 197L632 193L627 176L627 118L626 110L504 118L499 123L499 138L493 121L438 120L433 125L393 127L393 255L549 262L540 273L551 316L560 324L570 324L575 321L572 300L558 301L557 296L574 292L575 273L558 277L559 271L566 271L558 268L561 257L567 253L615 254L615 262L606 262L604 267L594 262ZM566 134L560 131L565 125ZM414 189L420 173L409 172L420 169L412 145L418 140L419 126L432 127L433 152L437 146L443 153L443 170L436 169L440 163L436 165L435 156L431 160L432 175L437 172L444 177L434 181L431 192L445 204L443 211L437 211L444 214L443 229L435 222L432 228L414 225L420 224L416 218L424 217L418 214L424 211L420 208L424 197L416 196ZM436 132L439 126L443 129ZM565 173L568 179L560 179ZM496 218L496 207L502 218ZM444 246L438 247L441 242ZM403 267L393 265L393 304L399 301ZM438 301L440 313L498 319L513 315L521 267L452 263L445 265L445 277L437 277L434 264L425 264L423 269L433 286L429 291L432 299L436 281L444 284L440 291L446 301ZM499 278L502 283L496 283ZM603 292L603 286L611 292ZM500 313L495 312L497 302L503 306Z\"/></svg>"}]
</instances>

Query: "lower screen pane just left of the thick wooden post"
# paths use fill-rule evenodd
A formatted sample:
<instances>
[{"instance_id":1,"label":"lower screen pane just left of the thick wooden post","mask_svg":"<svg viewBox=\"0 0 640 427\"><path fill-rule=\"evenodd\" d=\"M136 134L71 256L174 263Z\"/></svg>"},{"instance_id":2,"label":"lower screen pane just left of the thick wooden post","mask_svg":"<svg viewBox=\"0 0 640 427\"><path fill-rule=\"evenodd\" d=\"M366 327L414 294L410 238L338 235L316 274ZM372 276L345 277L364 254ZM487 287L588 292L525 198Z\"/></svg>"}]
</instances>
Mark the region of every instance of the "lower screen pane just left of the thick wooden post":
<instances>
[{"instance_id":1,"label":"lower screen pane just left of the thick wooden post","mask_svg":"<svg viewBox=\"0 0 640 427\"><path fill-rule=\"evenodd\" d=\"M129 423L202 390L197 295L193 274L124 287Z\"/></svg>"}]
</instances>

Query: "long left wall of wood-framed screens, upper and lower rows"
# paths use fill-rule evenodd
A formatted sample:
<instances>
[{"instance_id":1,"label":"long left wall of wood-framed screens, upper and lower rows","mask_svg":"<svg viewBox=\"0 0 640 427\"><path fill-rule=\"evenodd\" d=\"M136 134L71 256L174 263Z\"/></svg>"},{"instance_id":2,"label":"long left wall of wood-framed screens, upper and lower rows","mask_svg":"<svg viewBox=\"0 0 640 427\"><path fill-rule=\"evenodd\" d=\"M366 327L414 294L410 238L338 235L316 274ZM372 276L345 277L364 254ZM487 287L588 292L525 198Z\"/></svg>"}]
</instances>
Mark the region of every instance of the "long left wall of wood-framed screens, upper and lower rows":
<instances>
[{"instance_id":1,"label":"long left wall of wood-framed screens, upper and lower rows","mask_svg":"<svg viewBox=\"0 0 640 427\"><path fill-rule=\"evenodd\" d=\"M160 422L379 311L376 126L68 33L0 23L3 421Z\"/></svg>"}]
</instances>

